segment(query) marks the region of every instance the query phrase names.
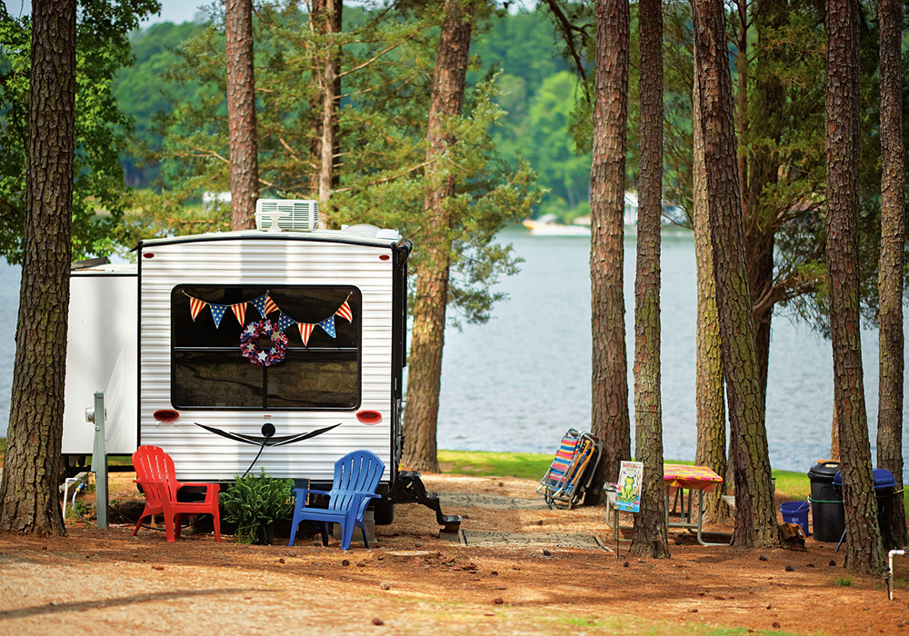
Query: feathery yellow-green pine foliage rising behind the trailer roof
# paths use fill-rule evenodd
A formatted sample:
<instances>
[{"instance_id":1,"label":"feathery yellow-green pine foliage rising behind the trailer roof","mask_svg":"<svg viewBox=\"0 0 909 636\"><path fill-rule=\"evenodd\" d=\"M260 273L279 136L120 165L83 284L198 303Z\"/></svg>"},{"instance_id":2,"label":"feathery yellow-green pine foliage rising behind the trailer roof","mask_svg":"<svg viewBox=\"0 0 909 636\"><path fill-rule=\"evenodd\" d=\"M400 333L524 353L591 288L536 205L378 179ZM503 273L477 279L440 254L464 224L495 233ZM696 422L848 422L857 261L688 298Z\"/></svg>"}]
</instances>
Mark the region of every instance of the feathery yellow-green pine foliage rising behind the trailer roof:
<instances>
[{"instance_id":1,"label":"feathery yellow-green pine foliage rising behind the trailer roof","mask_svg":"<svg viewBox=\"0 0 909 636\"><path fill-rule=\"evenodd\" d=\"M493 243L494 234L530 214L538 199L528 164L520 159L510 164L496 151L491 131L504 116L496 104L501 96L496 75L467 91L463 114L445 122L456 143L427 172L426 124L439 16L348 13L355 28L335 36L342 43L345 73L338 123L343 161L334 193L320 203L320 213L333 226L400 230L418 246L412 256L416 265L419 245L427 240L423 206L435 186L431 179L453 179L455 194L445 201L445 214L452 219L452 322L484 322L502 297L493 292L494 283L516 272L517 265L509 246ZM261 195L313 198L317 166L311 143L321 116L314 51L325 49L325 36L310 28L308 16L277 5L262 6L254 28L259 175L267 185ZM189 101L172 93L171 113L158 118L164 143L157 158L165 192L145 194L133 222L156 234L225 229L226 210L200 214L183 207L205 191L228 189L222 26L214 22L175 54L181 63L167 78L198 89Z\"/></svg>"}]
</instances>

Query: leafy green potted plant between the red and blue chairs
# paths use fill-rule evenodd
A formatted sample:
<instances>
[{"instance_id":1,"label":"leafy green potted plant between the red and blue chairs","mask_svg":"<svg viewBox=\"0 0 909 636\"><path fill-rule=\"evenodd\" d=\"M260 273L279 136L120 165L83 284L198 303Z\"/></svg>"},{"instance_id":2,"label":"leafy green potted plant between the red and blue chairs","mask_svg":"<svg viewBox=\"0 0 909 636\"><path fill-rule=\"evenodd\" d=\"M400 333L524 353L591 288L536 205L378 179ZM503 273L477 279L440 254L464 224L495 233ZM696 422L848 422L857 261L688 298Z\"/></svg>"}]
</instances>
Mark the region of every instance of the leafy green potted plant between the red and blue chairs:
<instances>
[{"instance_id":1,"label":"leafy green potted plant between the red and blue chairs","mask_svg":"<svg viewBox=\"0 0 909 636\"><path fill-rule=\"evenodd\" d=\"M265 474L235 475L234 484L221 497L225 522L236 524L236 536L243 543L271 545L275 522L289 519L294 480L275 479Z\"/></svg>"}]
</instances>

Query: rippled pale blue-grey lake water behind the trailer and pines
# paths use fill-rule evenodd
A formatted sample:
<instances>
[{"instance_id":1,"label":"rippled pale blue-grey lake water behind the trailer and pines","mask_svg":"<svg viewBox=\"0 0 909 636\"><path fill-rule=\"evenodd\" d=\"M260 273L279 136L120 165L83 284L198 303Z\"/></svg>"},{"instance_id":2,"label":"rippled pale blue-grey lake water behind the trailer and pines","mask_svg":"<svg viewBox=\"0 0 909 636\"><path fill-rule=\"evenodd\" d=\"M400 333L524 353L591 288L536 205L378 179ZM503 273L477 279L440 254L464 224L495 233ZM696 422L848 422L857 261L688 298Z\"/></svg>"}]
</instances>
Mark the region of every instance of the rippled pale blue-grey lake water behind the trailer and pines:
<instances>
[{"instance_id":1,"label":"rippled pale blue-grey lake water behind the trailer and pines","mask_svg":"<svg viewBox=\"0 0 909 636\"><path fill-rule=\"evenodd\" d=\"M569 428L590 427L589 239L500 234L524 258L498 286L509 299L483 325L445 332L439 448L554 453ZM634 356L634 237L625 240L628 355ZM665 234L662 253L665 456L693 460L695 271L691 234ZM9 418L19 268L0 262L0 436ZM5 343L5 344L3 344ZM863 338L871 440L877 417L877 334ZM634 386L630 374L629 386ZM774 468L804 472L830 452L831 345L774 317L767 432ZM629 400L632 407L633 400ZM906 419L909 422L909 418ZM909 426L904 448L909 448ZM907 471L909 472L909 471ZM904 479L905 476L904 476Z\"/></svg>"}]
</instances>

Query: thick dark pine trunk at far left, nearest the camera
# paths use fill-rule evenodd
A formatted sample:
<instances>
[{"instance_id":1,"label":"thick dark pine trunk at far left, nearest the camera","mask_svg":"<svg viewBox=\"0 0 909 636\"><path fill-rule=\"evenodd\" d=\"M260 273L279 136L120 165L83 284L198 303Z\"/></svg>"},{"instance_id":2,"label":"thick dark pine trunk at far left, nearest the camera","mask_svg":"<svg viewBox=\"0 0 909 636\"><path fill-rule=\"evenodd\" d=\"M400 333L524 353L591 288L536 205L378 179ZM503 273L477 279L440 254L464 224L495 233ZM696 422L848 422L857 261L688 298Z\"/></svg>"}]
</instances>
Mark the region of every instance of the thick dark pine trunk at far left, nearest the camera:
<instances>
[{"instance_id":1,"label":"thick dark pine trunk at far left, nearest the camera","mask_svg":"<svg viewBox=\"0 0 909 636\"><path fill-rule=\"evenodd\" d=\"M75 159L75 0L32 3L25 237L0 531L64 535L58 502Z\"/></svg>"}]
</instances>

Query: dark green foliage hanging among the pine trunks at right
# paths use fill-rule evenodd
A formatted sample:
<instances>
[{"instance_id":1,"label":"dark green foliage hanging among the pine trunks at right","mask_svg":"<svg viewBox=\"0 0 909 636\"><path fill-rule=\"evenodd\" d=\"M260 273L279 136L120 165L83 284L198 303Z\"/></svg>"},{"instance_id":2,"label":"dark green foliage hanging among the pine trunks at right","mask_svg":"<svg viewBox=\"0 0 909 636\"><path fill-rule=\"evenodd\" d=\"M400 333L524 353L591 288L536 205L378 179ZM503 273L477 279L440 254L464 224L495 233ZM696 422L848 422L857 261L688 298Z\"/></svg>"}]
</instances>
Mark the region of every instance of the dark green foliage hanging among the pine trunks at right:
<instances>
[{"instance_id":1,"label":"dark green foliage hanging among the pine trunks at right","mask_svg":"<svg viewBox=\"0 0 909 636\"><path fill-rule=\"evenodd\" d=\"M767 5L769 6L769 5ZM764 13L762 13L762 10ZM774 254L773 285L768 293L778 307L828 333L824 264L824 34L823 5L795 2L783 15L764 5L748 5L750 30L745 64L747 122L738 152L747 162L742 182L750 255ZM666 5L664 64L666 87L666 198L692 213L691 6ZM735 42L738 20L730 19ZM864 318L874 320L879 249L879 116L877 104L877 32L868 21L861 40L861 303ZM731 59L740 64L730 46ZM780 108L768 100L782 96ZM768 96L770 95L770 96ZM909 104L909 102L907 102ZM736 113L740 117L741 113ZM907 126L909 131L909 126ZM764 173L762 174L762 171ZM769 174L769 176L768 176Z\"/></svg>"}]
</instances>

